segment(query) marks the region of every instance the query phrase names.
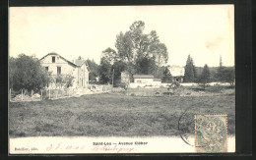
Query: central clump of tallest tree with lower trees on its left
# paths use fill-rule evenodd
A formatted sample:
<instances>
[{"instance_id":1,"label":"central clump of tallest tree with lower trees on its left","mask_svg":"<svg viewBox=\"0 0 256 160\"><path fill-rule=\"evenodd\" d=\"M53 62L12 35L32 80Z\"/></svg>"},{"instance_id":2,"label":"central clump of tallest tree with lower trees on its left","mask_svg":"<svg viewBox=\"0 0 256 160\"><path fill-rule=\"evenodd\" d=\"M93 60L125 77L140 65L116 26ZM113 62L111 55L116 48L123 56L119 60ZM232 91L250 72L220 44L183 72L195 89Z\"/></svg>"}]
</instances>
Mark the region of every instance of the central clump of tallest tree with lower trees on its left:
<instances>
[{"instance_id":1,"label":"central clump of tallest tree with lower trees on its left","mask_svg":"<svg viewBox=\"0 0 256 160\"><path fill-rule=\"evenodd\" d=\"M151 74L161 78L159 68L168 60L167 48L160 42L156 30L144 33L144 28L144 22L134 22L128 31L116 35L117 51L109 47L102 51L99 67L102 83L111 81L112 70L109 68L116 62L123 63L130 78L135 74ZM118 82L116 80L120 80L120 73L114 74L114 77L114 81Z\"/></svg>"}]
</instances>

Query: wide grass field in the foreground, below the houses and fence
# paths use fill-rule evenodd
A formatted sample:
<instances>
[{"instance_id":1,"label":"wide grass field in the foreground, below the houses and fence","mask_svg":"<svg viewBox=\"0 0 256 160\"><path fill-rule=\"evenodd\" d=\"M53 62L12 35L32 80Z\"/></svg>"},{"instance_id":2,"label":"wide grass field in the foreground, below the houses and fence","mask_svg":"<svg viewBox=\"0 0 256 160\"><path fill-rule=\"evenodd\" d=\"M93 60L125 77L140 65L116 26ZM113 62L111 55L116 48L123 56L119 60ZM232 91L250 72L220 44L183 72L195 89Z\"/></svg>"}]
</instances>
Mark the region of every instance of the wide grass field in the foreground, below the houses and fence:
<instances>
[{"instance_id":1,"label":"wide grass field in the foreground, below the houses and fence","mask_svg":"<svg viewBox=\"0 0 256 160\"><path fill-rule=\"evenodd\" d=\"M235 98L216 96L140 97L118 93L58 100L10 102L9 134L16 136L153 136L194 132L195 114L227 114L234 133Z\"/></svg>"}]
</instances>

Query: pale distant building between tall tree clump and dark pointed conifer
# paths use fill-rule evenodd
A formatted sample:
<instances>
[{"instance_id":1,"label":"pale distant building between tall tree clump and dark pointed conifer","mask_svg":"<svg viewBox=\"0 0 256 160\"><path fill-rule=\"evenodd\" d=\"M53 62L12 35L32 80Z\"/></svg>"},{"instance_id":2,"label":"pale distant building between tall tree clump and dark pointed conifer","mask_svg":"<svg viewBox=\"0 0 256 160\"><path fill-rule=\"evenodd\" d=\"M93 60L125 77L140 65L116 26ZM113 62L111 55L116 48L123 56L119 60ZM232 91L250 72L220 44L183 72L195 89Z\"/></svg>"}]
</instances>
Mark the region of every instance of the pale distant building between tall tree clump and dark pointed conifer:
<instances>
[{"instance_id":1,"label":"pale distant building between tall tree clump and dark pointed conifer","mask_svg":"<svg viewBox=\"0 0 256 160\"><path fill-rule=\"evenodd\" d=\"M172 82L174 81L183 82L184 75L185 75L184 67L170 66L168 67L168 70L170 72Z\"/></svg>"}]
</instances>

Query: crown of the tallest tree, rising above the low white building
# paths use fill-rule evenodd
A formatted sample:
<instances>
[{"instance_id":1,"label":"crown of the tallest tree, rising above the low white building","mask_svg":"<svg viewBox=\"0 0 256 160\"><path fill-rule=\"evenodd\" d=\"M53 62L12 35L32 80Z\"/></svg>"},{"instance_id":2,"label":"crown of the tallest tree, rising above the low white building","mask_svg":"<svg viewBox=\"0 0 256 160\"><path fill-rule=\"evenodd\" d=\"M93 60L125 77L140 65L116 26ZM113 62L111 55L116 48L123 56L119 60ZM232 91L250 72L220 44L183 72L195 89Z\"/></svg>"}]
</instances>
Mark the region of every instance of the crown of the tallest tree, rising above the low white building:
<instances>
[{"instance_id":1,"label":"crown of the tallest tree, rising above the low white building","mask_svg":"<svg viewBox=\"0 0 256 160\"><path fill-rule=\"evenodd\" d=\"M157 31L152 30L147 34L143 32L144 28L144 22L134 22L128 31L120 32L116 36L115 47L119 60L129 64L130 69L135 67L137 73L146 74L153 73L149 71L156 68L156 66L164 65L168 60L168 53L165 44L160 42ZM142 62L150 64L144 66ZM142 66L144 69L138 69Z\"/></svg>"}]
</instances>

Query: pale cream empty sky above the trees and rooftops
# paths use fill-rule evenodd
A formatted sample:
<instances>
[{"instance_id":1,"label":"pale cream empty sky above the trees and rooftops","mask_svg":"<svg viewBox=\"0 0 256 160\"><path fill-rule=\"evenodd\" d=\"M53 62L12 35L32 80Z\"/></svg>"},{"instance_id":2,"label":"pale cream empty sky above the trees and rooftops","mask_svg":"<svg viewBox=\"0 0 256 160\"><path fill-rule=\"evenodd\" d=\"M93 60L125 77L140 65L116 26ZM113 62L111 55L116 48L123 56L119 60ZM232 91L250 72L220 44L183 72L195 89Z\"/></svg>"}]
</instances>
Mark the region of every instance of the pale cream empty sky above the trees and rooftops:
<instances>
[{"instance_id":1,"label":"pale cream empty sky above the trees and rooftops","mask_svg":"<svg viewBox=\"0 0 256 160\"><path fill-rule=\"evenodd\" d=\"M116 35L135 21L145 33L156 30L168 51L166 65L234 66L233 5L11 7L9 55L41 58L55 52L67 59L82 56L100 61L101 52L115 48Z\"/></svg>"}]
</instances>

